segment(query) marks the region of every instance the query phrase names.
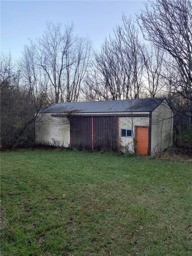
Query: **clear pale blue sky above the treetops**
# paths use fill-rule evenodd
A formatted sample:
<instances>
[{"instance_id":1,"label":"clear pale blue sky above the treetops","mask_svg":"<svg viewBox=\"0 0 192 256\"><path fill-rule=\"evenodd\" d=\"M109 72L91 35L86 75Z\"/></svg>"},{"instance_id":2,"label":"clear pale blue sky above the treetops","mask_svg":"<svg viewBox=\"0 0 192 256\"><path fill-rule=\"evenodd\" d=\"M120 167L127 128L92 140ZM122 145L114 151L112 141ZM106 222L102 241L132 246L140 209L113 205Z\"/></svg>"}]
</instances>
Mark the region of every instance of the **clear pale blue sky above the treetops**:
<instances>
[{"instance_id":1,"label":"clear pale blue sky above the treetops","mask_svg":"<svg viewBox=\"0 0 192 256\"><path fill-rule=\"evenodd\" d=\"M63 25L74 22L75 34L86 36L99 49L112 28L122 24L122 12L126 16L144 9L143 1L0 1L1 51L19 57L23 46L41 36L46 20Z\"/></svg>"}]
</instances>

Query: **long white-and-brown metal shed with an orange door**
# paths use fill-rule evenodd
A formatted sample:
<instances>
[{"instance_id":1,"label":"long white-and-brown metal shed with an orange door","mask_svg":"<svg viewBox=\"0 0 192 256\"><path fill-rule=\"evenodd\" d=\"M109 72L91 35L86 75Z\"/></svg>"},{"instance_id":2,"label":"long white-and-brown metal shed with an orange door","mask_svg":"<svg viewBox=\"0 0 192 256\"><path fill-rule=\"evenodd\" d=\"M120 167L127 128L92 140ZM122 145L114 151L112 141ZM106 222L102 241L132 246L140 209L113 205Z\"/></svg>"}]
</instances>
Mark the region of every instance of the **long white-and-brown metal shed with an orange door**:
<instances>
[{"instance_id":1,"label":"long white-and-brown metal shed with an orange door","mask_svg":"<svg viewBox=\"0 0 192 256\"><path fill-rule=\"evenodd\" d=\"M173 112L165 98L58 103L36 121L36 143L143 155L172 145Z\"/></svg>"}]
</instances>

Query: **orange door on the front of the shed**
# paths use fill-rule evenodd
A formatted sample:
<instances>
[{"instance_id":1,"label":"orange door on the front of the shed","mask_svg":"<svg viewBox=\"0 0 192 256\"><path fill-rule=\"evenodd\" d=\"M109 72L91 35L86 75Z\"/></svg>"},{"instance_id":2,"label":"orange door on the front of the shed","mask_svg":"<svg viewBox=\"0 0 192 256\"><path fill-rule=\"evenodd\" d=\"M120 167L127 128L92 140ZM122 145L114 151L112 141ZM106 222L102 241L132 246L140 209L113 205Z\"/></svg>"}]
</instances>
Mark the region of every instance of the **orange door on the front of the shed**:
<instances>
[{"instance_id":1,"label":"orange door on the front of the shed","mask_svg":"<svg viewBox=\"0 0 192 256\"><path fill-rule=\"evenodd\" d=\"M136 154L147 155L148 152L148 127L135 127Z\"/></svg>"}]
</instances>

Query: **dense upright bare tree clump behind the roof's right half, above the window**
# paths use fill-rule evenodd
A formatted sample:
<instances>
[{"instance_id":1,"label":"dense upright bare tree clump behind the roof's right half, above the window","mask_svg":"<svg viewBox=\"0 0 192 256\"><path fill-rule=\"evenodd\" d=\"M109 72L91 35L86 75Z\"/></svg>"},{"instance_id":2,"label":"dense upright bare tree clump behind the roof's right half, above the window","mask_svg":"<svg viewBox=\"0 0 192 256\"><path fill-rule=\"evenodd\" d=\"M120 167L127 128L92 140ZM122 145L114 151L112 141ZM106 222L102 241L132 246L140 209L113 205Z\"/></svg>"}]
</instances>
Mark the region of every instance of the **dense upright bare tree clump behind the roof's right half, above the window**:
<instances>
[{"instance_id":1,"label":"dense upright bare tree clump behind the roof's right half, above the window","mask_svg":"<svg viewBox=\"0 0 192 256\"><path fill-rule=\"evenodd\" d=\"M109 99L139 98L144 68L139 32L132 18L123 14L123 25L116 26L114 37L105 39L101 51L95 55L103 86L109 90Z\"/></svg>"}]
</instances>

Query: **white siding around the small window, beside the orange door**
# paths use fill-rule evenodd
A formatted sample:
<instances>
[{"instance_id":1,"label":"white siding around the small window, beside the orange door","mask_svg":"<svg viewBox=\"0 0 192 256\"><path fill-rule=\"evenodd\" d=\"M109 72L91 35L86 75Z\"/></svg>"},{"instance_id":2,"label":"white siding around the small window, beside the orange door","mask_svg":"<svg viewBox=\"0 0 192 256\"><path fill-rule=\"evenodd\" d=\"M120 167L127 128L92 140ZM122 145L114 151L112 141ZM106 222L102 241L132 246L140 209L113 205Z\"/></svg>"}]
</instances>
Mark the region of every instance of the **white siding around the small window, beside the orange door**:
<instances>
[{"instance_id":1,"label":"white siding around the small window, beside the orange door","mask_svg":"<svg viewBox=\"0 0 192 256\"><path fill-rule=\"evenodd\" d=\"M119 117L119 144L123 152L135 152L135 126L149 126L149 117ZM121 137L121 129L132 129L132 138Z\"/></svg>"}]
</instances>

